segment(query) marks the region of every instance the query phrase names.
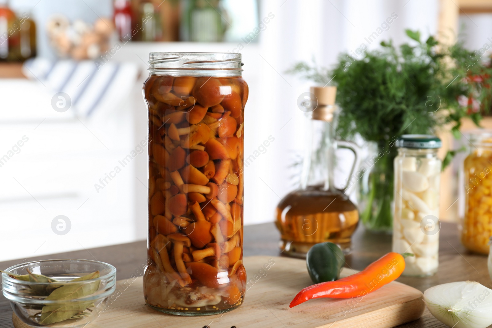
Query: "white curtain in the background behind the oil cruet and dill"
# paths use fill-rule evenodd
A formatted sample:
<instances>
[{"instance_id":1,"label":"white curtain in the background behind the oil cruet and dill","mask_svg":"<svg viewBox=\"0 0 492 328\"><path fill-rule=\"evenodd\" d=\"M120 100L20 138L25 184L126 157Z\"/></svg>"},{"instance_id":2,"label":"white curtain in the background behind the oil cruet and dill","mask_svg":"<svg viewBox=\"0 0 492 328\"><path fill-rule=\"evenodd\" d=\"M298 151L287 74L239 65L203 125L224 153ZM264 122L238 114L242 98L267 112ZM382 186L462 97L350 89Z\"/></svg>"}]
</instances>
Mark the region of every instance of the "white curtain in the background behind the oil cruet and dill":
<instances>
[{"instance_id":1,"label":"white curtain in the background behind the oil cruet and dill","mask_svg":"<svg viewBox=\"0 0 492 328\"><path fill-rule=\"evenodd\" d=\"M246 170L247 224L272 221L279 198L295 186L288 170L293 154L303 154L304 113L297 98L313 83L285 71L304 60L331 67L341 52L356 52L362 44L374 49L382 40L406 42L405 29L435 34L437 0L265 0L259 18L275 15L259 34L255 70L261 78L247 106L246 156L267 136L275 141ZM391 22L391 23L389 23ZM371 36L369 38L369 36ZM369 43L369 42L370 43ZM260 99L261 98L261 99Z\"/></svg>"}]
</instances>

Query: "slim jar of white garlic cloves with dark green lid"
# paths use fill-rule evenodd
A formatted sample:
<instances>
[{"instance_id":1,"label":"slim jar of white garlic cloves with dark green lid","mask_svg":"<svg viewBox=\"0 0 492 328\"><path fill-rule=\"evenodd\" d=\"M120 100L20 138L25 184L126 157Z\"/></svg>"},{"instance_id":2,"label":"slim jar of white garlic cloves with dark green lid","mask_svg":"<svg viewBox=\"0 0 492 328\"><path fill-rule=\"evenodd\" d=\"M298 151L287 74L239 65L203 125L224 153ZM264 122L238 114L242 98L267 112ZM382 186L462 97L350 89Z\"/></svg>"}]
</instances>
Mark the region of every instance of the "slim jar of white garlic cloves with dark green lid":
<instances>
[{"instance_id":1,"label":"slim jar of white garlic cloves with dark green lid","mask_svg":"<svg viewBox=\"0 0 492 328\"><path fill-rule=\"evenodd\" d=\"M396 143L393 251L405 257L405 276L430 276L439 265L441 140L406 134Z\"/></svg>"}]
</instances>

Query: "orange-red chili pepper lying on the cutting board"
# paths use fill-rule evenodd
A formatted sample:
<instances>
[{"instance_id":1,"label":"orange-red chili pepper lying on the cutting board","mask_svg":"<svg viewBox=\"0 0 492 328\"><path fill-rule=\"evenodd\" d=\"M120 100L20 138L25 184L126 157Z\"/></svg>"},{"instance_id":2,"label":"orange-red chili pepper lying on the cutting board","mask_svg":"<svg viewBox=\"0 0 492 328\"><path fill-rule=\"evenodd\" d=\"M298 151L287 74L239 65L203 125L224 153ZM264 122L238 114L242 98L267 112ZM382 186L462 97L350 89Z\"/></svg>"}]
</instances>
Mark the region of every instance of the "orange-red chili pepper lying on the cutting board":
<instances>
[{"instance_id":1,"label":"orange-red chili pepper lying on the cutting board","mask_svg":"<svg viewBox=\"0 0 492 328\"><path fill-rule=\"evenodd\" d=\"M398 253L388 253L363 271L336 281L306 287L290 302L294 307L311 298L353 298L365 296L393 280L405 269L405 259Z\"/></svg>"}]
</instances>

